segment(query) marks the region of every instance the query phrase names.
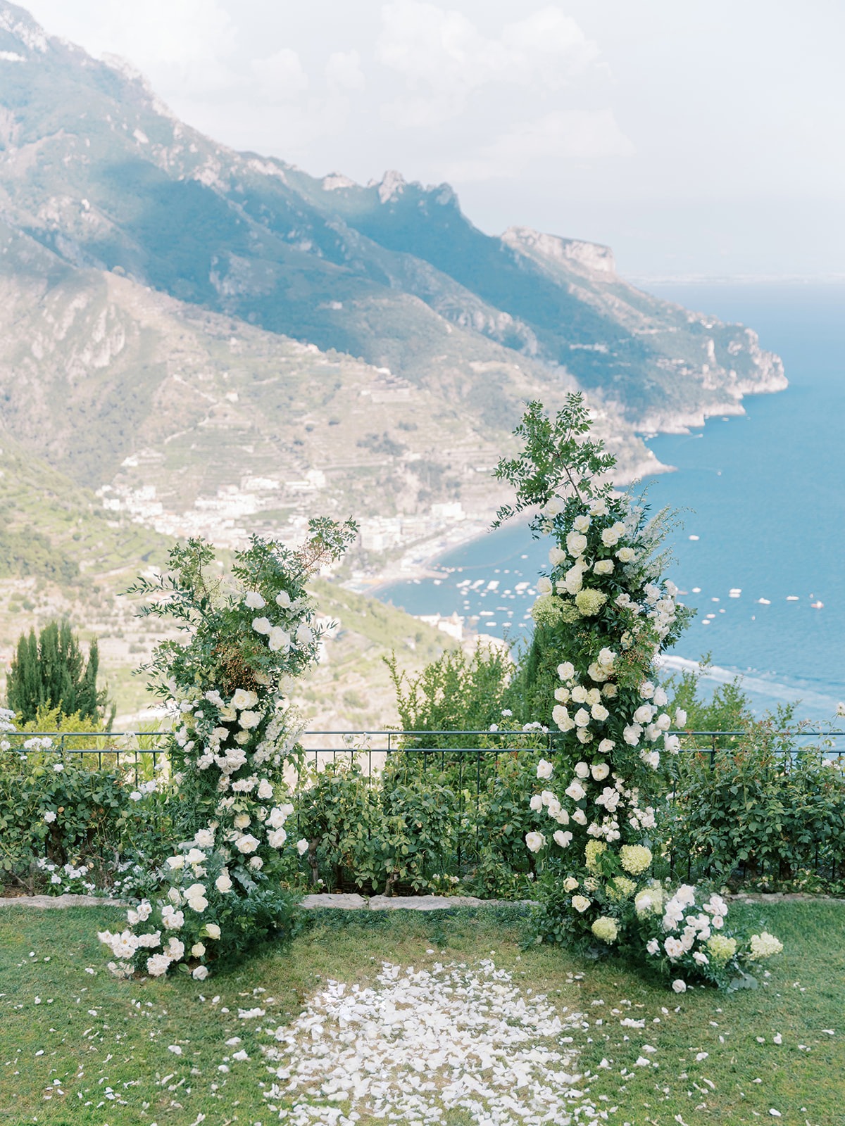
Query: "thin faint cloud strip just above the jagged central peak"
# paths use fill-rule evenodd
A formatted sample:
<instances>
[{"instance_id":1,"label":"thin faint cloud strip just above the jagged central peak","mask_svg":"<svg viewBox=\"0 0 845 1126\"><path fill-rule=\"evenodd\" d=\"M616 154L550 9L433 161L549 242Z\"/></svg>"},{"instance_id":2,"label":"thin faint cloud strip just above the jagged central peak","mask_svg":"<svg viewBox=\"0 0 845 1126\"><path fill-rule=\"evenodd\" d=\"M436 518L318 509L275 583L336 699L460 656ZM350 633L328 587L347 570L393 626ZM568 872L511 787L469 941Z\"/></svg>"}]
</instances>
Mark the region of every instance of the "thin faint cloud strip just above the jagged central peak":
<instances>
[{"instance_id":1,"label":"thin faint cloud strip just above the jagged central peak","mask_svg":"<svg viewBox=\"0 0 845 1126\"><path fill-rule=\"evenodd\" d=\"M610 109L558 109L513 125L491 144L448 169L459 182L523 176L541 160L629 157L634 148Z\"/></svg>"}]
</instances>

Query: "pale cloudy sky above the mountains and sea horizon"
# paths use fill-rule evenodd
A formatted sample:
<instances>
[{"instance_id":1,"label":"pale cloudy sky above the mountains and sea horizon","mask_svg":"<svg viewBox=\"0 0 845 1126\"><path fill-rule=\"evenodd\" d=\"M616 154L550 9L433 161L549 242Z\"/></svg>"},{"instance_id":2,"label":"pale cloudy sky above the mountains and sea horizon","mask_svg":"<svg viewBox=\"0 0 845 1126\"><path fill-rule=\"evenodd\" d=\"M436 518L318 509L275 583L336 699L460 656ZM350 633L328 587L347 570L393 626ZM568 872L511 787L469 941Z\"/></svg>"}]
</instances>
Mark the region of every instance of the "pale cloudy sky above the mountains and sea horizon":
<instances>
[{"instance_id":1,"label":"pale cloudy sky above the mountains and sea horizon","mask_svg":"<svg viewBox=\"0 0 845 1126\"><path fill-rule=\"evenodd\" d=\"M235 149L655 277L845 276L842 0L29 0Z\"/></svg>"}]
</instances>

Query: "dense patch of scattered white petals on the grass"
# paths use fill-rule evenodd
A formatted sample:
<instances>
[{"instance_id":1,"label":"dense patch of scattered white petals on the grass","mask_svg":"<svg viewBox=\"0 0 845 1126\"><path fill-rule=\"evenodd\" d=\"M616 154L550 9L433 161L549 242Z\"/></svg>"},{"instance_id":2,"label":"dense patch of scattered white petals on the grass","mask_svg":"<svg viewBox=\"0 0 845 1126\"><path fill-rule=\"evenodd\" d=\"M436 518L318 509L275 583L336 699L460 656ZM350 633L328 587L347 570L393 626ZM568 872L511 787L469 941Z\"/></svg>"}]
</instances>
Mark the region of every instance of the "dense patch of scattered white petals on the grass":
<instances>
[{"instance_id":1,"label":"dense patch of scattered white petals on the grass","mask_svg":"<svg viewBox=\"0 0 845 1126\"><path fill-rule=\"evenodd\" d=\"M468 1121L575 1120L598 1110L578 1089L570 1029L548 998L523 997L491 959L475 966L416 969L383 963L373 985L329 981L292 1025L263 1048L276 1082L266 1091L283 1101L287 1126L386 1118ZM348 1106L339 1119L337 1107ZM353 1114L353 1118L349 1115Z\"/></svg>"}]
</instances>

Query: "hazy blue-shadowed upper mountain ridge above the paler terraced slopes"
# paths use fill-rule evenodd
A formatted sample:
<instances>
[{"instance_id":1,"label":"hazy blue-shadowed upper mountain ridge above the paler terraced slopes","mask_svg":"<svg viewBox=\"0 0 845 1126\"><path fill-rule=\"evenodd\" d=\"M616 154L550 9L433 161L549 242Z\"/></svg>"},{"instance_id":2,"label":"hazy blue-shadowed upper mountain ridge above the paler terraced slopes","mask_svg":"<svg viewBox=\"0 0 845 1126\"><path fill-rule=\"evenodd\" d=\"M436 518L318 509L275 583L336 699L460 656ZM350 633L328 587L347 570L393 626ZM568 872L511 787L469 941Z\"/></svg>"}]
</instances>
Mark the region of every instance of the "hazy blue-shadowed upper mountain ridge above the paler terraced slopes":
<instances>
[{"instance_id":1,"label":"hazy blue-shadowed upper mountain ridge above the paler terraced slopes","mask_svg":"<svg viewBox=\"0 0 845 1126\"><path fill-rule=\"evenodd\" d=\"M490 238L445 185L388 173L359 187L234 153L176 120L131 70L0 10L27 28L6 33L24 59L5 64L7 206L66 260L412 379L443 366L444 329L464 327L481 352L490 337L539 357L551 382L564 367L633 423L655 409L722 409L757 376L776 382L745 330L628 286L604 248L524 229Z\"/></svg>"}]
</instances>

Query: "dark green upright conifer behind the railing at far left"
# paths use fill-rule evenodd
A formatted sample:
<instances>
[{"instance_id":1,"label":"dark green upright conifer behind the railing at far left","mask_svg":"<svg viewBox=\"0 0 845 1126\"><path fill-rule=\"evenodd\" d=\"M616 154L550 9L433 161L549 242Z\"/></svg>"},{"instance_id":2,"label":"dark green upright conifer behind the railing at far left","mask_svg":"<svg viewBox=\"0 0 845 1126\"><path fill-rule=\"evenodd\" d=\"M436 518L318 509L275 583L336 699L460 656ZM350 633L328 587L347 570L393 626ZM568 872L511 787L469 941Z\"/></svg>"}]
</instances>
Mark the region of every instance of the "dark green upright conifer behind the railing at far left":
<instances>
[{"instance_id":1,"label":"dark green upright conifer behind the railing at far left","mask_svg":"<svg viewBox=\"0 0 845 1126\"><path fill-rule=\"evenodd\" d=\"M39 709L57 708L98 722L106 707L106 689L97 689L99 650L95 638L82 656L70 623L50 622L36 638L21 634L7 678L8 704L24 723Z\"/></svg>"}]
</instances>

